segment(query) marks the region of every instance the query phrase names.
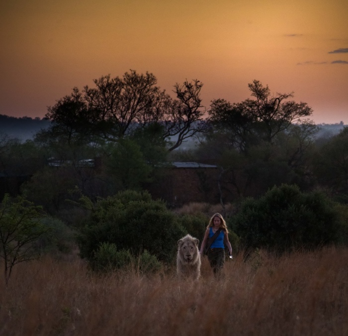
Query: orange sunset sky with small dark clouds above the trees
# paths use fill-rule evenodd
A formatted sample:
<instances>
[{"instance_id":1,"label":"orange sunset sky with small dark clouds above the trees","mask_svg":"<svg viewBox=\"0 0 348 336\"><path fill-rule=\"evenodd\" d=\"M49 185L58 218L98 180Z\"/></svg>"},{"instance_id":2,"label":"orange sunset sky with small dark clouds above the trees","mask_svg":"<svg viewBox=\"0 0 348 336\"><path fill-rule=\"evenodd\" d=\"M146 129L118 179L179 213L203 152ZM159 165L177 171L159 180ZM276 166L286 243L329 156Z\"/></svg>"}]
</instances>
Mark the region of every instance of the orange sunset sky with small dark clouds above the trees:
<instances>
[{"instance_id":1,"label":"orange sunset sky with small dark clouds above the trees","mask_svg":"<svg viewBox=\"0 0 348 336\"><path fill-rule=\"evenodd\" d=\"M42 118L74 86L133 69L168 92L200 80L207 108L259 80L316 123L348 124L347 0L8 0L0 40L0 114Z\"/></svg>"}]
</instances>

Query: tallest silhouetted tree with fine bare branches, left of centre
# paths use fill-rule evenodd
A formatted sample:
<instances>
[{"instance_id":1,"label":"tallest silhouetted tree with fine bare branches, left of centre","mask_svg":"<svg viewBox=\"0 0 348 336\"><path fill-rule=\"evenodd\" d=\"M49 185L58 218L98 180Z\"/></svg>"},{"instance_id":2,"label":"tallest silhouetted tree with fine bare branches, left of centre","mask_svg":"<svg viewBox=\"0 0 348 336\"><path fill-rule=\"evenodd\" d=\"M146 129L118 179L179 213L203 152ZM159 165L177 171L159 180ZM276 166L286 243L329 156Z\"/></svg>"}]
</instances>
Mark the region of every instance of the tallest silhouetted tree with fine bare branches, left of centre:
<instances>
[{"instance_id":1,"label":"tallest silhouetted tree with fine bare branches, left of centre","mask_svg":"<svg viewBox=\"0 0 348 336\"><path fill-rule=\"evenodd\" d=\"M95 88L84 88L85 100L89 109L98 112L99 130L108 140L129 135L135 125L159 121L170 101L148 72L139 75L131 70L122 78L107 75L93 82Z\"/></svg>"}]
</instances>

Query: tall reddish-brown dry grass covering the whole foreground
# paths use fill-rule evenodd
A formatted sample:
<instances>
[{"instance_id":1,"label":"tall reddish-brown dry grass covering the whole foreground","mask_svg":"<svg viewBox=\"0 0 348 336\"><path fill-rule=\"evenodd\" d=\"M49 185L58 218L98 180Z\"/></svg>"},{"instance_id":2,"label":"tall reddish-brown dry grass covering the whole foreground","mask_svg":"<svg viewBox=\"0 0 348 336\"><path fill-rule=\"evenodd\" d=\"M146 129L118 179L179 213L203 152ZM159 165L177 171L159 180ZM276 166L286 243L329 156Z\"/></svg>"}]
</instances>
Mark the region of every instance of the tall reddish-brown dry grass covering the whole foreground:
<instances>
[{"instance_id":1,"label":"tall reddish-brown dry grass covering the whole foreground","mask_svg":"<svg viewBox=\"0 0 348 336\"><path fill-rule=\"evenodd\" d=\"M49 257L1 278L0 335L348 335L348 249L227 262L199 281Z\"/></svg>"}]
</instances>

